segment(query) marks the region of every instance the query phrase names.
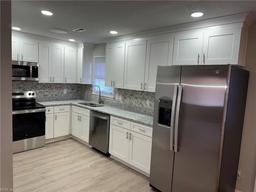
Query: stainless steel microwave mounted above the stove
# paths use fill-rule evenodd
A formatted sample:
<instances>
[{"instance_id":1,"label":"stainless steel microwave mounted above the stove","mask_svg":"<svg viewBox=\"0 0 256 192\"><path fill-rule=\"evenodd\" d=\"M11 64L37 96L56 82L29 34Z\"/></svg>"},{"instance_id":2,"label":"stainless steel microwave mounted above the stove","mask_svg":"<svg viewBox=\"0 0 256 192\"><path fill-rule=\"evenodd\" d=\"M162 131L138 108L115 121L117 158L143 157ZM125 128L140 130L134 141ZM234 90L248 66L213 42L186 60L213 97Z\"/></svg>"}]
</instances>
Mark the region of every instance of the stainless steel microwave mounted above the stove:
<instances>
[{"instance_id":1,"label":"stainless steel microwave mounted above the stove","mask_svg":"<svg viewBox=\"0 0 256 192\"><path fill-rule=\"evenodd\" d=\"M12 80L38 81L38 63L12 61Z\"/></svg>"}]
</instances>

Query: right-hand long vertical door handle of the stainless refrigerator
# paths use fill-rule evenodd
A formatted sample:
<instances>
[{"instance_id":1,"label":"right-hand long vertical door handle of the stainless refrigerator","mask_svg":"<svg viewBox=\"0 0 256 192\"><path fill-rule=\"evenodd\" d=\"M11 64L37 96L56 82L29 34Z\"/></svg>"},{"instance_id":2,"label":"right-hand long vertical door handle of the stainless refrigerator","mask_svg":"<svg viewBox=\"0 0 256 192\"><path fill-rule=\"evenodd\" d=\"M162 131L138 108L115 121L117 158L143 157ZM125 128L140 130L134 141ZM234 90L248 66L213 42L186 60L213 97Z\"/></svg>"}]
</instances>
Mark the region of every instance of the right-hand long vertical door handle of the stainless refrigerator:
<instances>
[{"instance_id":1,"label":"right-hand long vertical door handle of the stainless refrigerator","mask_svg":"<svg viewBox=\"0 0 256 192\"><path fill-rule=\"evenodd\" d=\"M174 152L178 152L178 128L179 128L179 115L180 115L180 101L183 86L179 85L178 98L177 98L177 106L176 106L176 117L175 117L175 127L174 127Z\"/></svg>"}]
</instances>

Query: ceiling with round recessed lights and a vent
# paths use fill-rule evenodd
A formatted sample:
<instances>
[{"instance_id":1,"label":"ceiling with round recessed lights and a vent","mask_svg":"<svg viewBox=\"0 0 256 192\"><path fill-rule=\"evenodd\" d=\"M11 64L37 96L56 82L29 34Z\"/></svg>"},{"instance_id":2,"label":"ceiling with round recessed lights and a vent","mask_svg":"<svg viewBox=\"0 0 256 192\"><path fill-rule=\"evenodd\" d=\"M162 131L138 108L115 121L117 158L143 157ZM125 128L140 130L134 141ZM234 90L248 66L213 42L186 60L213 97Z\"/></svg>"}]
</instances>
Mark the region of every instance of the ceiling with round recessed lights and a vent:
<instances>
[{"instance_id":1,"label":"ceiling with round recessed lights and a vent","mask_svg":"<svg viewBox=\"0 0 256 192\"><path fill-rule=\"evenodd\" d=\"M44 16L41 10L48 10L53 15ZM204 12L204 16L190 17L190 13L197 11ZM25 33L100 44L105 42L104 38L242 12L251 12L256 18L256 0L14 0L12 26ZM86 31L72 31L79 27ZM50 32L51 28L66 30L68 34ZM110 34L110 30L118 34Z\"/></svg>"}]
</instances>

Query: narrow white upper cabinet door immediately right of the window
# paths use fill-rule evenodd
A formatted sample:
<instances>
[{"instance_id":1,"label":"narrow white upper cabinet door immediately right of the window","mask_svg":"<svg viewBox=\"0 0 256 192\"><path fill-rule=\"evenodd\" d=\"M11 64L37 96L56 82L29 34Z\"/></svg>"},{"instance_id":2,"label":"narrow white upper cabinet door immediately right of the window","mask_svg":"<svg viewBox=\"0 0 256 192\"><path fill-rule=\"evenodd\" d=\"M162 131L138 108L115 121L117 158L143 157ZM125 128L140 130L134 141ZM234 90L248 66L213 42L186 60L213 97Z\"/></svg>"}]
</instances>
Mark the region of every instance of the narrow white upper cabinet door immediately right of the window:
<instances>
[{"instance_id":1,"label":"narrow white upper cabinet door immediately right of the window","mask_svg":"<svg viewBox=\"0 0 256 192\"><path fill-rule=\"evenodd\" d=\"M106 75L105 75L105 86L112 87L114 81L114 71L116 63L116 46L106 46Z\"/></svg>"}]
</instances>

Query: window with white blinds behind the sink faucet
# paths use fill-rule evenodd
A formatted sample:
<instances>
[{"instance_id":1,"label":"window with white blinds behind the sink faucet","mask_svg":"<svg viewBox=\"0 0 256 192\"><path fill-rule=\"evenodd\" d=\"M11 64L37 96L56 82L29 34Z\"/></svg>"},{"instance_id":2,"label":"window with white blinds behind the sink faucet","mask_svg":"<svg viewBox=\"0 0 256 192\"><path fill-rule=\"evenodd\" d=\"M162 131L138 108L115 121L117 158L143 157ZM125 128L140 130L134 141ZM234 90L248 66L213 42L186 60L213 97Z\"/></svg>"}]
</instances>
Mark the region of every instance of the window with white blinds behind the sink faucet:
<instances>
[{"instance_id":1,"label":"window with white blinds behind the sink faucet","mask_svg":"<svg viewBox=\"0 0 256 192\"><path fill-rule=\"evenodd\" d=\"M106 97L114 97L114 89L112 87L105 87L105 71L106 71L106 57L94 57L93 65L93 85L98 85L101 90L101 95ZM93 94L99 94L99 88L93 88Z\"/></svg>"}]
</instances>

